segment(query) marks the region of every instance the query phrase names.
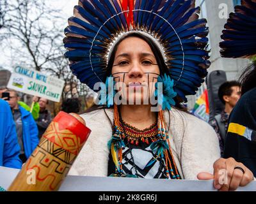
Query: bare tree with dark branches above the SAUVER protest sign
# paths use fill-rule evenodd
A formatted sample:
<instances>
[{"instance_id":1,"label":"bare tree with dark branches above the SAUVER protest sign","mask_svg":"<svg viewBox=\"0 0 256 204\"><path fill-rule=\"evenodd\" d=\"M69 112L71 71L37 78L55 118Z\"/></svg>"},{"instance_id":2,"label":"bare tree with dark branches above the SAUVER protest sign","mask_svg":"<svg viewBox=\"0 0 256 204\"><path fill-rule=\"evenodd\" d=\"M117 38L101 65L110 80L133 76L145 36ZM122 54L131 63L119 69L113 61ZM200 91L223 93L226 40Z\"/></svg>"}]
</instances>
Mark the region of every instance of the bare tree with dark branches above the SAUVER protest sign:
<instances>
[{"instance_id":1,"label":"bare tree with dark branches above the SAUVER protest sign","mask_svg":"<svg viewBox=\"0 0 256 204\"><path fill-rule=\"evenodd\" d=\"M59 57L56 50L63 38L60 11L49 8L46 0L13 0L8 6L13 9L4 15L1 35L19 41L22 50L16 50L17 57L40 71L47 62Z\"/></svg>"}]
</instances>

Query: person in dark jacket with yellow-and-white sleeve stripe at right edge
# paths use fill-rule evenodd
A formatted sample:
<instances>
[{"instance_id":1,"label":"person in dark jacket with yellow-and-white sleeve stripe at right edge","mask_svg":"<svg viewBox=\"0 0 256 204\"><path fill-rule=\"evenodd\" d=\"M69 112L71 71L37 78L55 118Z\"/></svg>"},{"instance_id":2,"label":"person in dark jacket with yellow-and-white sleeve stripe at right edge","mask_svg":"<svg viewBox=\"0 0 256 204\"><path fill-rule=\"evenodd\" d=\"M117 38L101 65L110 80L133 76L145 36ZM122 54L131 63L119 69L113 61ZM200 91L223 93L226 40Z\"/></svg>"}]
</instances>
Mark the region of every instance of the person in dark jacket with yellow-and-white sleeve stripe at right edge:
<instances>
[{"instance_id":1,"label":"person in dark jacket with yellow-and-white sleeve stripe at right edge","mask_svg":"<svg viewBox=\"0 0 256 204\"><path fill-rule=\"evenodd\" d=\"M224 157L234 157L256 177L256 63L240 78L242 96L228 120Z\"/></svg>"}]
</instances>

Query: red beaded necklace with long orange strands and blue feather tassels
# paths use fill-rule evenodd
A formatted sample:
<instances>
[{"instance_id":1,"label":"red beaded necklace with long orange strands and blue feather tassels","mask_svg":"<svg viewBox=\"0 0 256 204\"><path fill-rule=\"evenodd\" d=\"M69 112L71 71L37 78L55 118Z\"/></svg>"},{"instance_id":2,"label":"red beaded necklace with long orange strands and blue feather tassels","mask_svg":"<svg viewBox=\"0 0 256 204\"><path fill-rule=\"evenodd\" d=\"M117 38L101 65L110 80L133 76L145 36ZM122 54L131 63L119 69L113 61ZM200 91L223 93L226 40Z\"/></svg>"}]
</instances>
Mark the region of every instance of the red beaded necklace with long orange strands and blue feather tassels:
<instances>
[{"instance_id":1,"label":"red beaded necklace with long orange strands and blue feather tassels","mask_svg":"<svg viewBox=\"0 0 256 204\"><path fill-rule=\"evenodd\" d=\"M124 121L123 121L124 122ZM118 106L114 105L114 128L113 128L113 136L111 140L108 142L108 147L111 149L111 155L113 158L113 162L115 163L115 173L113 173L112 177L136 177L136 175L125 175L124 170L122 168L122 150L125 147L124 138L125 128L121 126L122 120L119 117ZM124 123L125 124L125 123ZM138 138L141 135L140 130L136 128L132 128L129 124L125 124L126 128L132 133L129 135L129 141L135 143L139 141L143 142L142 138ZM152 125L153 126L153 125ZM159 111L158 113L158 121L157 121L157 135L154 137L153 133L155 133L154 127L150 126L148 128L148 134L143 135L143 138L146 142L146 139L154 140L150 145L150 148L153 151L156 151L157 157L165 160L165 173L167 179L180 179L179 171L177 170L177 166L173 159L173 154L170 146L168 131L166 129L166 124L164 122L163 111ZM135 131L136 130L136 131ZM146 138L146 139L145 139ZM128 139L128 138L127 138ZM149 142L148 142L149 143Z\"/></svg>"}]
</instances>

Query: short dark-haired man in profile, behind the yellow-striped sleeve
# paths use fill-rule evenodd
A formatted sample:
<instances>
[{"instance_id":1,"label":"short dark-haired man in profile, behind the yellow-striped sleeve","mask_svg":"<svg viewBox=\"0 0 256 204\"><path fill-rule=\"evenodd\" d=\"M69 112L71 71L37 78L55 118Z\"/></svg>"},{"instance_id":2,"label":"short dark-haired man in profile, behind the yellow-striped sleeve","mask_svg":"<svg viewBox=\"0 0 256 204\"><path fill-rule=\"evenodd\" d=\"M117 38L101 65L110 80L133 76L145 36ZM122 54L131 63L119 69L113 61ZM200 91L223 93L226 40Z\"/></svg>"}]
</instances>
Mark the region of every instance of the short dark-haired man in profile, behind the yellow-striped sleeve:
<instances>
[{"instance_id":1,"label":"short dark-haired man in profile, behind the yellow-striped sleeve","mask_svg":"<svg viewBox=\"0 0 256 204\"><path fill-rule=\"evenodd\" d=\"M228 117L241 97L241 86L239 82L229 81L221 84L218 91L218 96L221 102L225 105L225 108L220 114L214 117L214 120L211 120L209 123L218 135L222 157L227 133Z\"/></svg>"}]
</instances>

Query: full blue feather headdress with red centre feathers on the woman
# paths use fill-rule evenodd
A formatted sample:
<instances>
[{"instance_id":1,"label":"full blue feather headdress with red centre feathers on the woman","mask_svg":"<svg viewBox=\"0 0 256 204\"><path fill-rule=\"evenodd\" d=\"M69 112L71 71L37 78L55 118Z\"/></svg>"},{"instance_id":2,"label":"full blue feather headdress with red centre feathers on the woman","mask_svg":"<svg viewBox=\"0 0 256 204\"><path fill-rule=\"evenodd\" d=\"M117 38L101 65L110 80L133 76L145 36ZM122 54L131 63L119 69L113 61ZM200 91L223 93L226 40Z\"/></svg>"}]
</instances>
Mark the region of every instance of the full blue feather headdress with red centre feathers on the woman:
<instances>
[{"instance_id":1,"label":"full blue feather headdress with red centre feathers on the woman","mask_svg":"<svg viewBox=\"0 0 256 204\"><path fill-rule=\"evenodd\" d=\"M195 0L79 0L64 38L70 69L91 89L105 82L109 52L123 34L152 36L182 101L195 94L210 66L205 19Z\"/></svg>"}]
</instances>

